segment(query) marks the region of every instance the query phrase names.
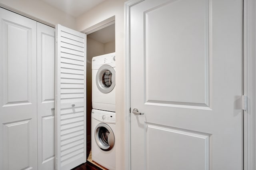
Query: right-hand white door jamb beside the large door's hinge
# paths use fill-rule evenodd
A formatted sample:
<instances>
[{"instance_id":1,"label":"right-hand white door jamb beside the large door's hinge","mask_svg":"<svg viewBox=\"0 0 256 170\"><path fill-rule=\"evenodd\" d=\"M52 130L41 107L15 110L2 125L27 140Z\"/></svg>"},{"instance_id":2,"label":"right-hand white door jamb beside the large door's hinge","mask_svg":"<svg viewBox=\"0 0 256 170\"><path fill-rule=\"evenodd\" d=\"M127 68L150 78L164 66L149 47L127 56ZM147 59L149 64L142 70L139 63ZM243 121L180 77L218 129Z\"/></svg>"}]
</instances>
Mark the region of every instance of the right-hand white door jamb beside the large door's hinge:
<instances>
[{"instance_id":1,"label":"right-hand white door jamb beside the large door's hinge","mask_svg":"<svg viewBox=\"0 0 256 170\"><path fill-rule=\"evenodd\" d=\"M256 90L256 72L255 63L255 11L256 6L254 0L244 0L244 95L247 96L247 108L244 111L244 170L254 170L255 160L255 90Z\"/></svg>"}]
</instances>

